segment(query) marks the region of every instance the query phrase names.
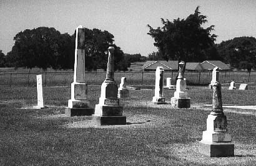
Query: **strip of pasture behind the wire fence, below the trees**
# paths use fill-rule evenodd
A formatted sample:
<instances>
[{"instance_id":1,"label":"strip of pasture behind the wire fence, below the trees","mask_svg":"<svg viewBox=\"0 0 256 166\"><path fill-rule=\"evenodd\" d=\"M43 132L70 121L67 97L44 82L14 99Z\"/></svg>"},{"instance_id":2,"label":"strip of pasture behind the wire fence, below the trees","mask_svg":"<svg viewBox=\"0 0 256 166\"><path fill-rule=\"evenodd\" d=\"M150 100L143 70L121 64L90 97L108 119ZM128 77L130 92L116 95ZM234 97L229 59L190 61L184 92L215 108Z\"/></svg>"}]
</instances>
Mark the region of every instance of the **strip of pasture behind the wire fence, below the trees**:
<instances>
[{"instance_id":1,"label":"strip of pasture behind the wire fence, below the trees","mask_svg":"<svg viewBox=\"0 0 256 166\"><path fill-rule=\"evenodd\" d=\"M39 74L42 74L44 86L67 86L73 82L74 72L0 73L0 86L36 86L36 75ZM155 72L117 71L115 72L115 80L118 84L122 76L127 78L127 85L155 85ZM177 71L165 71L164 85L167 77L172 78L172 85L174 85L175 76L177 76ZM88 85L101 85L105 78L106 72L86 71L86 83ZM185 78L188 85L207 85L212 80L212 71L185 71ZM235 83L255 82L256 71L252 71L250 74L247 71L220 71L219 80L220 83L230 83L230 81L235 81Z\"/></svg>"}]
</instances>

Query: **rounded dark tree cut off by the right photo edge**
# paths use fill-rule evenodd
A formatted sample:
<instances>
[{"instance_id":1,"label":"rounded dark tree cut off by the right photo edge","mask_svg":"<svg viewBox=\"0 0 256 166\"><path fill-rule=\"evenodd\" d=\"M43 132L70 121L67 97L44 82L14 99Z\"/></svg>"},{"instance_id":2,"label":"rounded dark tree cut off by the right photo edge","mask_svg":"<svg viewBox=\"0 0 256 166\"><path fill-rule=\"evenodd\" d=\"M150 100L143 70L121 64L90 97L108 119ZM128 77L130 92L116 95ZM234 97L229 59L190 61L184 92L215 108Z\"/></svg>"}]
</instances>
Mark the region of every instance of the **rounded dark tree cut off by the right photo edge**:
<instances>
[{"instance_id":1,"label":"rounded dark tree cut off by the right photo edge","mask_svg":"<svg viewBox=\"0 0 256 166\"><path fill-rule=\"evenodd\" d=\"M254 37L235 37L234 39L222 41L217 45L220 57L231 67L256 69L256 39Z\"/></svg>"}]
</instances>

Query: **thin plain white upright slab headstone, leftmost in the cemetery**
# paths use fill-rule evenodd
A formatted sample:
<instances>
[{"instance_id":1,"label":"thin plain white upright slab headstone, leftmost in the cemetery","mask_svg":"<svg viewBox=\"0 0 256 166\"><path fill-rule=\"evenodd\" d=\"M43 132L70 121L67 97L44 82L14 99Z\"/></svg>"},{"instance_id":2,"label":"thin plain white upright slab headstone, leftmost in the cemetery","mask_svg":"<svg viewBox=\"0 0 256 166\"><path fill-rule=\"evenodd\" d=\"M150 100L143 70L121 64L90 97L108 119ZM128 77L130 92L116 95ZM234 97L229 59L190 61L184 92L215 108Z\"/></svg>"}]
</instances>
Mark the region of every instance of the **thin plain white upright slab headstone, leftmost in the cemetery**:
<instances>
[{"instance_id":1,"label":"thin plain white upright slab headstone, leftmost in the cemetery","mask_svg":"<svg viewBox=\"0 0 256 166\"><path fill-rule=\"evenodd\" d=\"M44 96L42 94L42 75L36 75L36 90L37 90L37 106L33 106L36 109L42 109L44 107Z\"/></svg>"}]
</instances>

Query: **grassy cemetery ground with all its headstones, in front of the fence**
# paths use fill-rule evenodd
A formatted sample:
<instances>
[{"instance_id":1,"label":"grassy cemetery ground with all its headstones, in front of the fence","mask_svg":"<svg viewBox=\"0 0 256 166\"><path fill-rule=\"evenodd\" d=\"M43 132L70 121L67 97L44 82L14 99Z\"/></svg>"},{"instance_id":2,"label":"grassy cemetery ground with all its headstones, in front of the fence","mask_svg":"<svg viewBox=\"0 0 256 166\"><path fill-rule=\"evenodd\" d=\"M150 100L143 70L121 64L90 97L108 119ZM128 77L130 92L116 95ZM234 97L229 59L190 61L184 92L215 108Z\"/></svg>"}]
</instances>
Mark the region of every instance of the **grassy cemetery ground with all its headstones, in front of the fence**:
<instances>
[{"instance_id":1,"label":"grassy cemetery ground with all its headstones, in front of the fence","mask_svg":"<svg viewBox=\"0 0 256 166\"><path fill-rule=\"evenodd\" d=\"M77 27L71 86L42 87L37 75L37 87L1 89L4 165L255 164L256 109L229 106L254 105L256 84L222 86L215 67L211 88L188 88L180 62L175 85L164 86L157 67L154 88L129 90L127 75L117 85L109 47L106 77L90 85L83 33Z\"/></svg>"}]
</instances>

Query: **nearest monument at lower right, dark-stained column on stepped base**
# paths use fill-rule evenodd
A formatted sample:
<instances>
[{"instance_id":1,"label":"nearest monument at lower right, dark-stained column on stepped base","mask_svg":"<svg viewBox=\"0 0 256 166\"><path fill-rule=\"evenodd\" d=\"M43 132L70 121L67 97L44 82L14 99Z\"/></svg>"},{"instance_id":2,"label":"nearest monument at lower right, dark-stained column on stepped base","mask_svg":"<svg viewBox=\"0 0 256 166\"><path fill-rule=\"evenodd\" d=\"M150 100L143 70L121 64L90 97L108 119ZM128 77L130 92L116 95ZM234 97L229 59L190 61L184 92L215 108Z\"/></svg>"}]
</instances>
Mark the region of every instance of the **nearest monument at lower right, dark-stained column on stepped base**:
<instances>
[{"instance_id":1,"label":"nearest monument at lower right, dark-stained column on stepped base","mask_svg":"<svg viewBox=\"0 0 256 166\"><path fill-rule=\"evenodd\" d=\"M217 68L215 71L218 71ZM207 118L207 129L199 142L199 152L210 157L234 156L234 143L227 132L227 117L222 109L221 85L218 81L212 84L212 111Z\"/></svg>"}]
</instances>

